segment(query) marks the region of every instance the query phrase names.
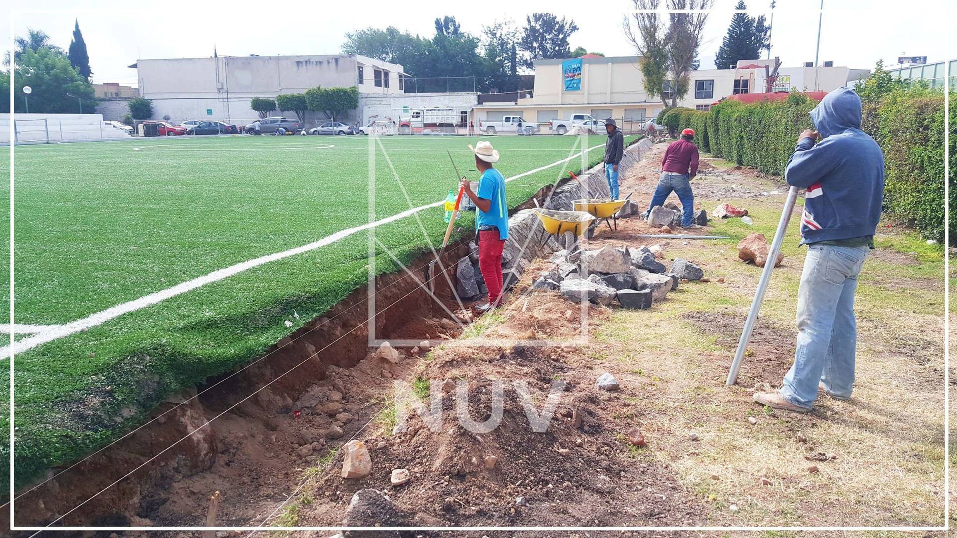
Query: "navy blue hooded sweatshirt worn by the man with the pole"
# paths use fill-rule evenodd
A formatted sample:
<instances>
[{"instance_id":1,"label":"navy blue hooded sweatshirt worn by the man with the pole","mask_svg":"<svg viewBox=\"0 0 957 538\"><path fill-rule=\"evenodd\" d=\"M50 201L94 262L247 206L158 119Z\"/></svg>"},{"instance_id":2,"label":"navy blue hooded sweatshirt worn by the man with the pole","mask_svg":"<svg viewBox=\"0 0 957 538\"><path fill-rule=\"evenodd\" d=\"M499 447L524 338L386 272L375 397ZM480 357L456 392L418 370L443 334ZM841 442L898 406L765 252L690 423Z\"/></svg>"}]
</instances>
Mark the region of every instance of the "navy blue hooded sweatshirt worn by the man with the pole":
<instances>
[{"instance_id":1,"label":"navy blue hooded sweatshirt worn by the man with the pole","mask_svg":"<svg viewBox=\"0 0 957 538\"><path fill-rule=\"evenodd\" d=\"M785 168L788 185L807 189L801 244L874 235L884 192L884 156L860 130L860 97L829 93L811 111L821 142L802 139Z\"/></svg>"}]
</instances>

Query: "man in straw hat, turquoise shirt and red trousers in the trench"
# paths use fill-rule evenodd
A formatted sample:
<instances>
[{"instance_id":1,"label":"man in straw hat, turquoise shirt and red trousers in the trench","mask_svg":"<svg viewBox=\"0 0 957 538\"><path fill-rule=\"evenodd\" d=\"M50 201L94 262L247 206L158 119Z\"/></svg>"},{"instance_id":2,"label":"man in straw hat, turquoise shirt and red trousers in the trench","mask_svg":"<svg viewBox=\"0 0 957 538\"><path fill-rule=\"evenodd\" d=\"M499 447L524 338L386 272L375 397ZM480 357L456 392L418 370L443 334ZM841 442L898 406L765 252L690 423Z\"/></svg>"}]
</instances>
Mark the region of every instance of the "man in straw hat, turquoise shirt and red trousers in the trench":
<instances>
[{"instance_id":1,"label":"man in straw hat, turquoise shirt and red trousers in the trench","mask_svg":"<svg viewBox=\"0 0 957 538\"><path fill-rule=\"evenodd\" d=\"M479 270L488 286L488 304L481 310L501 303L501 252L508 238L508 207L505 205L505 178L492 165L499 162L499 151L484 140L475 147L476 169L481 173L479 192L473 192L469 180L462 178L462 191L476 205L476 235L479 235Z\"/></svg>"}]
</instances>

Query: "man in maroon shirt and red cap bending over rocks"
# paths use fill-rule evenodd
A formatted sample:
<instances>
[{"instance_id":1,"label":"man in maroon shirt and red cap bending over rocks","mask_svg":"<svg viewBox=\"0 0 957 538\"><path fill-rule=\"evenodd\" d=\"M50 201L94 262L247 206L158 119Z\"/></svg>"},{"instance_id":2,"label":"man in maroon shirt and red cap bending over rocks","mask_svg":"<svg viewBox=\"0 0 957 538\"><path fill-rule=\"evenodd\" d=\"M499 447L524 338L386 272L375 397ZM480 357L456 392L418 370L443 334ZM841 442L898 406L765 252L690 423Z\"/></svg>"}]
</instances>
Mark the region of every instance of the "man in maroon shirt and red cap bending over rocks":
<instances>
[{"instance_id":1,"label":"man in maroon shirt and red cap bending over rocks","mask_svg":"<svg viewBox=\"0 0 957 538\"><path fill-rule=\"evenodd\" d=\"M648 206L645 219L657 206L663 205L672 191L678 194L684 214L681 226L697 228L695 224L695 193L691 191L691 180L698 175L698 146L691 142L695 138L693 129L681 131L681 140L671 143L661 160L661 179L658 181L655 196Z\"/></svg>"}]
</instances>

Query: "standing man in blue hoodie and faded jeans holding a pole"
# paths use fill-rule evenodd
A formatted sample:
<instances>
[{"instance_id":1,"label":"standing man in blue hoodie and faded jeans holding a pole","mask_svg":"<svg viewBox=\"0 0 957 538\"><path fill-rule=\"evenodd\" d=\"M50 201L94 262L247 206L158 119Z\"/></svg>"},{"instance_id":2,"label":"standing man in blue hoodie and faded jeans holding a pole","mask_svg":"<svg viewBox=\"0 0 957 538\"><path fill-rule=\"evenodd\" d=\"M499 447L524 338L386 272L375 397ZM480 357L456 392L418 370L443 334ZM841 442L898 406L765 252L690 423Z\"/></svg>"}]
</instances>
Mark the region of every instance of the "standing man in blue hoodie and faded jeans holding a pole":
<instances>
[{"instance_id":1,"label":"standing man in blue hoodie and faded jeans holding a pole","mask_svg":"<svg viewBox=\"0 0 957 538\"><path fill-rule=\"evenodd\" d=\"M853 90L829 93L811 111L817 130L801 133L785 168L785 181L807 190L801 244L808 255L798 289L794 364L779 391L754 394L774 409L808 413L818 391L851 397L857 275L874 248L884 191L884 156L860 130L860 116Z\"/></svg>"}]
</instances>

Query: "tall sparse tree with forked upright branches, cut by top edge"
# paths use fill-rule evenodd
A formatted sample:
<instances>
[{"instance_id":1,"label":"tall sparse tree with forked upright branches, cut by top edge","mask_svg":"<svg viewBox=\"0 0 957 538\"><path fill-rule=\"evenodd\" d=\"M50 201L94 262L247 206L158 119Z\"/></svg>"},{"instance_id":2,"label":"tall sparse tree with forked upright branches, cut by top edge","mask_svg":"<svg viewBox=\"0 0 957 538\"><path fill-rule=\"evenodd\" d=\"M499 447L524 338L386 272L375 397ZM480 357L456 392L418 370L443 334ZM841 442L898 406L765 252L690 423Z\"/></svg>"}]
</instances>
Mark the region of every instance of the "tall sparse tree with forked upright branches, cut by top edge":
<instances>
[{"instance_id":1,"label":"tall sparse tree with forked upright branches, cut by top edge","mask_svg":"<svg viewBox=\"0 0 957 538\"><path fill-rule=\"evenodd\" d=\"M688 93L691 71L698 67L701 34L714 0L668 0L667 29L663 28L663 20L656 12L638 12L657 11L661 0L632 0L632 3L635 12L631 19L625 17L625 36L642 56L639 65L645 78L645 92L648 97L660 95L665 106L677 106L679 99ZM664 91L666 84L667 92Z\"/></svg>"}]
</instances>

